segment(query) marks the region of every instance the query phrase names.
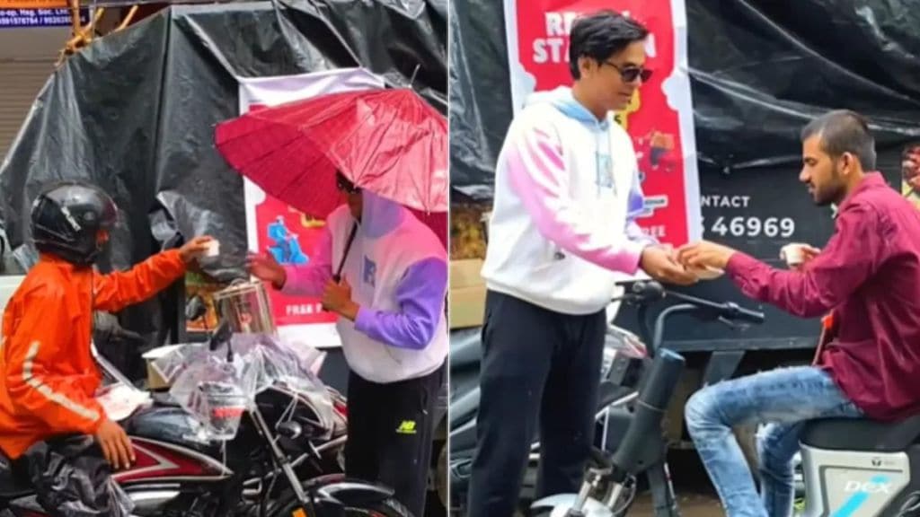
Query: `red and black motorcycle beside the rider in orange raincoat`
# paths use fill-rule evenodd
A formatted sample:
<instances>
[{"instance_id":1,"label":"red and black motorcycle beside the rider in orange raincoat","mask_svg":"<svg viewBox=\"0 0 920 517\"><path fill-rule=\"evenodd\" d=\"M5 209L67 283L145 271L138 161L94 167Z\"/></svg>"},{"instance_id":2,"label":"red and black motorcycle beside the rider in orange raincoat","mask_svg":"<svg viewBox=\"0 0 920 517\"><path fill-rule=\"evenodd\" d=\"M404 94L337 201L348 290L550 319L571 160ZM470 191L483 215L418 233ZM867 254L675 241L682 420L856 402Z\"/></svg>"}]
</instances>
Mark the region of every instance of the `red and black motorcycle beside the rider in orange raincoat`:
<instances>
[{"instance_id":1,"label":"red and black motorcycle beside the rider in orange raincoat","mask_svg":"<svg viewBox=\"0 0 920 517\"><path fill-rule=\"evenodd\" d=\"M232 338L222 322L207 347L214 353L225 348L227 362L235 364ZM105 385L132 386L98 354L97 362ZM344 399L307 372L305 389L271 378L267 370L260 374L270 382L247 408L227 396L226 385L194 386L191 398L212 427L237 419L232 439L215 440L202 432L202 414L192 418L188 408L163 392L153 392L152 407L122 422L136 462L113 478L132 501L132 515L409 517L391 488L340 474ZM4 462L9 463L0 458ZM47 514L28 480L0 465L0 515L4 511L15 517Z\"/></svg>"}]
</instances>

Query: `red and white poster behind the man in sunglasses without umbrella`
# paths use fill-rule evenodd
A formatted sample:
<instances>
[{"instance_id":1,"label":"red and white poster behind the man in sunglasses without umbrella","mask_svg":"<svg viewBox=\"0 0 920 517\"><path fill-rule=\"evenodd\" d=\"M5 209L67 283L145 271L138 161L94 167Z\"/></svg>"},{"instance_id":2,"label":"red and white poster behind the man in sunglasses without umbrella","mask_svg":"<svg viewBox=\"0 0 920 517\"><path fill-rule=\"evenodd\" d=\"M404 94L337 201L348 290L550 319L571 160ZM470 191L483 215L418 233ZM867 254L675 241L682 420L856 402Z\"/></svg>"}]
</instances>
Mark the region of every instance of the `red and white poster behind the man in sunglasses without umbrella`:
<instances>
[{"instance_id":1,"label":"red and white poster behind the man in sunglasses without umbrella","mask_svg":"<svg viewBox=\"0 0 920 517\"><path fill-rule=\"evenodd\" d=\"M646 196L638 224L675 247L701 238L684 0L504 0L504 9L515 112L535 91L571 85L569 29L576 17L614 9L650 30L646 66L654 73L616 114L633 138Z\"/></svg>"}]
</instances>

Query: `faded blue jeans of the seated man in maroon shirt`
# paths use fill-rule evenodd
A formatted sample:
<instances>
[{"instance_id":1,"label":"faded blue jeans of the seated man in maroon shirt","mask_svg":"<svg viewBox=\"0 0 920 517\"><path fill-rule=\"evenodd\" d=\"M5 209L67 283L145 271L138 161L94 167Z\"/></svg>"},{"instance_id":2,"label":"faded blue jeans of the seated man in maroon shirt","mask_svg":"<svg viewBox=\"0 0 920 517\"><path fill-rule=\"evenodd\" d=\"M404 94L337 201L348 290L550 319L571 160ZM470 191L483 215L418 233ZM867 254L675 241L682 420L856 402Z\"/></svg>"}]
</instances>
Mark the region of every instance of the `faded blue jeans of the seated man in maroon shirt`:
<instances>
[{"instance_id":1,"label":"faded blue jeans of the seated man in maroon shirt","mask_svg":"<svg viewBox=\"0 0 920 517\"><path fill-rule=\"evenodd\" d=\"M707 386L690 397L687 429L728 517L789 517L792 458L806 420L859 418L860 411L820 368L781 368ZM757 435L761 494L731 428L767 423Z\"/></svg>"}]
</instances>

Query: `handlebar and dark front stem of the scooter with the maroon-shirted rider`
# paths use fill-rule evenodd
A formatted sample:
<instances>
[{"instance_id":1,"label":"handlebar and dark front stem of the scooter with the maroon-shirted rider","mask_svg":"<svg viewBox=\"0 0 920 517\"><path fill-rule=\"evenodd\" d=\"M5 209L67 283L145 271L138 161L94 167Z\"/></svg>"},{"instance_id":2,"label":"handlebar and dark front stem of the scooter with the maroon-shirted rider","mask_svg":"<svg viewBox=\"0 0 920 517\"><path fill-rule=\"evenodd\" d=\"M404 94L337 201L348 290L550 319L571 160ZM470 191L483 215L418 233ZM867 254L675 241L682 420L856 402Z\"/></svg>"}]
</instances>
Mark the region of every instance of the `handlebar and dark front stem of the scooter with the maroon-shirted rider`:
<instances>
[{"instance_id":1,"label":"handlebar and dark front stem of the scooter with the maroon-shirted rider","mask_svg":"<svg viewBox=\"0 0 920 517\"><path fill-rule=\"evenodd\" d=\"M663 309L655 319L653 332L649 332L650 304L665 297L680 303ZM737 304L672 293L655 281L634 283L624 301L639 306L639 324L649 343L650 357L633 410L624 416L626 432L613 454L600 449L592 451L592 465L587 468L579 493L536 500L531 505L531 515L535 517L623 517L635 501L639 476L646 477L650 482L654 515L679 517L665 461L667 443L661 431L661 419L684 371L684 357L673 350L661 348L665 324L676 315L719 320L731 327L764 321L763 313Z\"/></svg>"}]
</instances>

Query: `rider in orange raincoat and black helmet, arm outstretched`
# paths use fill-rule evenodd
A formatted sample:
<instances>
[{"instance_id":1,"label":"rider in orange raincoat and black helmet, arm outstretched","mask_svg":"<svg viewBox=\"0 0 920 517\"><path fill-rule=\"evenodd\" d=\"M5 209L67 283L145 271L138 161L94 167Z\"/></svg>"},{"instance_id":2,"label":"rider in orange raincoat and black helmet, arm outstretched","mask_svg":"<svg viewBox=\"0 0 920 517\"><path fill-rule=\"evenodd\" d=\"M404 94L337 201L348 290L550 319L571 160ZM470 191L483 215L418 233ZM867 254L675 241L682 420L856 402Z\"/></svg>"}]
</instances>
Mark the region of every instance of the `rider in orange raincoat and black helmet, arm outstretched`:
<instances>
[{"instance_id":1,"label":"rider in orange raincoat and black helmet, arm outstretched","mask_svg":"<svg viewBox=\"0 0 920 517\"><path fill-rule=\"evenodd\" d=\"M93 264L117 212L105 192L76 182L42 190L32 205L40 259L6 305L0 341L0 450L11 460L66 434L95 436L116 469L134 459L127 434L94 398L101 376L90 351L93 311L117 312L163 290L211 237L102 275Z\"/></svg>"}]
</instances>

